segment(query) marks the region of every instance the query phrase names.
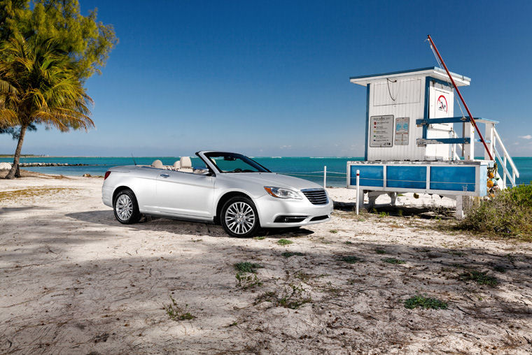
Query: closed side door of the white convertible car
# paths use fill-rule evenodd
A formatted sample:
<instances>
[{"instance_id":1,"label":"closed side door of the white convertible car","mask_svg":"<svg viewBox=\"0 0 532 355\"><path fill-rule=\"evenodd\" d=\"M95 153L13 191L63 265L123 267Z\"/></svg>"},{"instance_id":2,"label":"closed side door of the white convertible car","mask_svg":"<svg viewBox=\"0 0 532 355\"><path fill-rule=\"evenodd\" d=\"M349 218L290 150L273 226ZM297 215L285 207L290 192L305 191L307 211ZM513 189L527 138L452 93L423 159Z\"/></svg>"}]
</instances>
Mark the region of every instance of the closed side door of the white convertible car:
<instances>
[{"instance_id":1,"label":"closed side door of the white convertible car","mask_svg":"<svg viewBox=\"0 0 532 355\"><path fill-rule=\"evenodd\" d=\"M213 217L214 176L160 171L157 201L160 212L185 217Z\"/></svg>"}]
</instances>

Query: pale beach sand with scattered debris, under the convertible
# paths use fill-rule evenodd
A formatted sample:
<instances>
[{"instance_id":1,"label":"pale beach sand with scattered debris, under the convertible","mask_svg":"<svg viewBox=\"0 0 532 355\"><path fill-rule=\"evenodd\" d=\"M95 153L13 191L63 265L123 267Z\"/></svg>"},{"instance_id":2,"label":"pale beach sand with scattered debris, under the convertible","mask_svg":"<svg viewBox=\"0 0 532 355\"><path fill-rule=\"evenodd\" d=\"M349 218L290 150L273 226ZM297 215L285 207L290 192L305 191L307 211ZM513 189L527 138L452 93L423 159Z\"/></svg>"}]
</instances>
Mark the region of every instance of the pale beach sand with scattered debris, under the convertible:
<instances>
[{"instance_id":1,"label":"pale beach sand with scattered debris, under the convertible","mask_svg":"<svg viewBox=\"0 0 532 355\"><path fill-rule=\"evenodd\" d=\"M388 208L402 216L356 216L354 191L329 189L344 202L330 222L237 239L170 219L118 224L101 187L0 180L0 354L532 352L531 243L449 229L446 198L407 194ZM262 266L244 275L255 287L237 285L241 261ZM466 270L498 284L460 280ZM405 308L417 294L448 307ZM170 296L193 319L170 319Z\"/></svg>"}]
</instances>

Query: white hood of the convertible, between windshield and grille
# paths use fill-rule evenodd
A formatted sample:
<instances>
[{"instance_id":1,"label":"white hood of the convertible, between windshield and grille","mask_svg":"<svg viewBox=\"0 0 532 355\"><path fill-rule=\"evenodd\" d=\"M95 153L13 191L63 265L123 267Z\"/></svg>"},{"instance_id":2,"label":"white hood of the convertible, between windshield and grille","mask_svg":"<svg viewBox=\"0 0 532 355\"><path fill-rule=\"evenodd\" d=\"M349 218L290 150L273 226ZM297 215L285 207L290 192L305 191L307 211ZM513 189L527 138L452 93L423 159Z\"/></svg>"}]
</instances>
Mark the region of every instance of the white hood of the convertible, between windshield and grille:
<instances>
[{"instance_id":1,"label":"white hood of the convertible, between windshield and grille","mask_svg":"<svg viewBox=\"0 0 532 355\"><path fill-rule=\"evenodd\" d=\"M223 175L233 181L256 182L257 184L262 184L262 186L285 187L295 190L323 188L321 185L309 180L277 173L225 173Z\"/></svg>"}]
</instances>

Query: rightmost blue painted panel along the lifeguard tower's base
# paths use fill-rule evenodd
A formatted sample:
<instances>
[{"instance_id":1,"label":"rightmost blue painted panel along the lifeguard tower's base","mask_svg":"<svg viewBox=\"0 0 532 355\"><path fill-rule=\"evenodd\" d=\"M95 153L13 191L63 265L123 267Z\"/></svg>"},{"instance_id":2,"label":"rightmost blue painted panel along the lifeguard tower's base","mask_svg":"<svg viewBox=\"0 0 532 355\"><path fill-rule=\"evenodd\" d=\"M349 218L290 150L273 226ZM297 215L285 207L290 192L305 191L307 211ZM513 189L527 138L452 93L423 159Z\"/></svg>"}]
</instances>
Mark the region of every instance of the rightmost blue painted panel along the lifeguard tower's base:
<instances>
[{"instance_id":1,"label":"rightmost blue painted panel along the lifeguard tower's base","mask_svg":"<svg viewBox=\"0 0 532 355\"><path fill-rule=\"evenodd\" d=\"M475 191L475 166L430 167L430 189Z\"/></svg>"}]
</instances>

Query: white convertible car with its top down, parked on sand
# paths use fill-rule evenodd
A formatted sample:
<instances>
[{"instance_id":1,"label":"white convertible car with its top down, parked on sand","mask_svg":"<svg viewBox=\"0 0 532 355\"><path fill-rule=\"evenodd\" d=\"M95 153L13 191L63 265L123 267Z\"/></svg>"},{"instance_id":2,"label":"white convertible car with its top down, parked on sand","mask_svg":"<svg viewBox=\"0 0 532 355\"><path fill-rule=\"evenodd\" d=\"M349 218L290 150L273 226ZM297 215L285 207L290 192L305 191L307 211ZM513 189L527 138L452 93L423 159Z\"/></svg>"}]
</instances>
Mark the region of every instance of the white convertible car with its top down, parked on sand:
<instances>
[{"instance_id":1,"label":"white convertible car with its top down, parked on sand","mask_svg":"<svg viewBox=\"0 0 532 355\"><path fill-rule=\"evenodd\" d=\"M105 173L102 200L118 222L141 215L221 224L230 236L253 236L260 227L297 227L326 222L332 201L314 182L272 173L242 154L197 152L174 166L116 166Z\"/></svg>"}]
</instances>

